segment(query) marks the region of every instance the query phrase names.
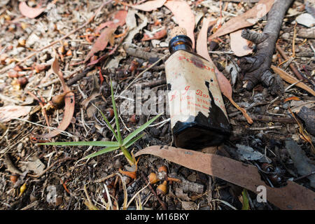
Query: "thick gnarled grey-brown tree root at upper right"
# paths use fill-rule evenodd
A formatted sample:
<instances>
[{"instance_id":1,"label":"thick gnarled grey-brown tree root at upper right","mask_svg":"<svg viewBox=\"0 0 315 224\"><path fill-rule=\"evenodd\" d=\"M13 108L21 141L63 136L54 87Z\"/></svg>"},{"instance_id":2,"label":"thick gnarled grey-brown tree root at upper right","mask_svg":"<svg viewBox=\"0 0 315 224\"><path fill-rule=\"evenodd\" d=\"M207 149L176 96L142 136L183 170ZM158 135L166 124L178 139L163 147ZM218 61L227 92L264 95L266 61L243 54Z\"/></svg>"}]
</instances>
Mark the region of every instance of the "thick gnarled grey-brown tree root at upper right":
<instances>
[{"instance_id":1,"label":"thick gnarled grey-brown tree root at upper right","mask_svg":"<svg viewBox=\"0 0 315 224\"><path fill-rule=\"evenodd\" d=\"M244 87L252 90L255 85L262 83L269 87L271 94L281 94L283 83L281 78L270 71L272 55L279 35L282 20L293 0L277 0L267 16L267 24L262 34L244 29L241 36L256 44L257 51L251 57L241 57L238 61L244 73Z\"/></svg>"}]
</instances>

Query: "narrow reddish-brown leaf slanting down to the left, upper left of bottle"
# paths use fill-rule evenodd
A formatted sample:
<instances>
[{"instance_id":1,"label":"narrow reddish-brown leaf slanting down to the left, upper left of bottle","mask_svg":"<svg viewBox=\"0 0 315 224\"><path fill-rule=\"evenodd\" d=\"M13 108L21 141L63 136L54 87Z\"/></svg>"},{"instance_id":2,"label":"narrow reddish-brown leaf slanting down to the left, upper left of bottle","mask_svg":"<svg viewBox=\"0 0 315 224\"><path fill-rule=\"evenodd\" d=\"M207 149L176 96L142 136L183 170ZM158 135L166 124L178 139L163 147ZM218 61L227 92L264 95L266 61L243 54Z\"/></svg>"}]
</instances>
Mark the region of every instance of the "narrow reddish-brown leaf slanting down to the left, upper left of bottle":
<instances>
[{"instance_id":1,"label":"narrow reddish-brown leaf slanting down to the left, upper left of bottle","mask_svg":"<svg viewBox=\"0 0 315 224\"><path fill-rule=\"evenodd\" d=\"M111 40L113 33L116 31L116 29L119 26L122 26L126 22L127 17L127 11L126 10L119 10L115 15L111 22L106 24L106 29L104 29L101 33L101 35L97 38L94 45L92 46L92 49L87 54L87 56L84 59L84 62L87 62L90 57L94 55L94 53L99 52L100 50L104 50Z\"/></svg>"}]
</instances>

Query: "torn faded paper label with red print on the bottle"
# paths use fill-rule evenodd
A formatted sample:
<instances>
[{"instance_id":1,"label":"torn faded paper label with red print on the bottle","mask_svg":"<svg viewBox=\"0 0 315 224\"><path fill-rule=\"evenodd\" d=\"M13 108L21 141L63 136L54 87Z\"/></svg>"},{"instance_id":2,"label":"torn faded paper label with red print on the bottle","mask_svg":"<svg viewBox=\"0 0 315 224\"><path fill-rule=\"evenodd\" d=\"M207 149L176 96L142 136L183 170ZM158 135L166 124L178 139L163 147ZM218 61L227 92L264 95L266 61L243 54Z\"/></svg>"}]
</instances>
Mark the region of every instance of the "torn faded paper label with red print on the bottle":
<instances>
[{"instance_id":1,"label":"torn faded paper label with red print on the bottle","mask_svg":"<svg viewBox=\"0 0 315 224\"><path fill-rule=\"evenodd\" d=\"M172 128L177 121L191 122L198 113L210 117L213 106L228 119L214 64L179 50L165 63ZM211 116L212 117L212 116Z\"/></svg>"}]
</instances>

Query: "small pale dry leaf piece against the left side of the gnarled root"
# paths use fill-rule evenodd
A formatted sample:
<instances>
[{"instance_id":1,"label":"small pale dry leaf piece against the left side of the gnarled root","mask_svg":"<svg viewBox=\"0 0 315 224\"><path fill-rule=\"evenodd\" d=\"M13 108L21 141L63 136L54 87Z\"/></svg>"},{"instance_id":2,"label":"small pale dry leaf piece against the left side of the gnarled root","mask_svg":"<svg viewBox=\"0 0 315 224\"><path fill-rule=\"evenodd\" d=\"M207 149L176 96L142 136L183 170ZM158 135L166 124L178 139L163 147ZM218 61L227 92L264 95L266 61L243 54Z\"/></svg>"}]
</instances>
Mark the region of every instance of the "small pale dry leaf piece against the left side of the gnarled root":
<instances>
[{"instance_id":1,"label":"small pale dry leaf piece against the left side of the gnarled root","mask_svg":"<svg viewBox=\"0 0 315 224\"><path fill-rule=\"evenodd\" d=\"M249 55L253 52L253 49L249 47L251 41L241 37L241 29L230 34L231 50L237 57Z\"/></svg>"}]
</instances>

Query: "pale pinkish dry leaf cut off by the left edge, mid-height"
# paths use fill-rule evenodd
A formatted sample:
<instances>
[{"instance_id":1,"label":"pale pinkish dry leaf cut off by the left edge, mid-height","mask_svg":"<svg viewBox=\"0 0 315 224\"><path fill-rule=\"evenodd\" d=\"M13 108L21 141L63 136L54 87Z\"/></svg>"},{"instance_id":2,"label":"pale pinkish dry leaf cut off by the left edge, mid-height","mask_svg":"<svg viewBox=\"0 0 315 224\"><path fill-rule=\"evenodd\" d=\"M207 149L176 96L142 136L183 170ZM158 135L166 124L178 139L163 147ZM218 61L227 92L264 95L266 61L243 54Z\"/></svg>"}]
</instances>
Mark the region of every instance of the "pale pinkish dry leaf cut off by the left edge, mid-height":
<instances>
[{"instance_id":1,"label":"pale pinkish dry leaf cut off by the left edge, mid-height","mask_svg":"<svg viewBox=\"0 0 315 224\"><path fill-rule=\"evenodd\" d=\"M0 122L8 122L14 118L27 116L31 111L31 106L3 106L0 107Z\"/></svg>"}]
</instances>

